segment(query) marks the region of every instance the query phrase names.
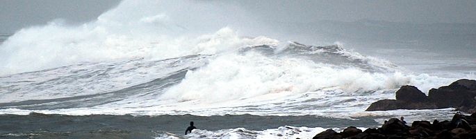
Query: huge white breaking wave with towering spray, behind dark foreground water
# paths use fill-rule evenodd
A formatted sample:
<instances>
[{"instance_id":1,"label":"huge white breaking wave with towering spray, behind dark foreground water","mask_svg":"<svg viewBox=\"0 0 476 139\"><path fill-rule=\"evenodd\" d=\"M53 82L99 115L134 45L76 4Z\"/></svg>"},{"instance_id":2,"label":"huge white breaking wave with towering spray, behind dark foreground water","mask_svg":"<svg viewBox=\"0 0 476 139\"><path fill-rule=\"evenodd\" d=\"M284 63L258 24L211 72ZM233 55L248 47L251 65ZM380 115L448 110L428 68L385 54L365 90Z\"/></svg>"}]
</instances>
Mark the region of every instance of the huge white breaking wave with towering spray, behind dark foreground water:
<instances>
[{"instance_id":1,"label":"huge white breaking wave with towering spray, behind dark foreground water","mask_svg":"<svg viewBox=\"0 0 476 139\"><path fill-rule=\"evenodd\" d=\"M244 15L213 1L123 1L80 26L19 30L0 46L0 113L349 117L402 85L454 81L338 43L248 37L259 28L238 26L254 23Z\"/></svg>"}]
</instances>

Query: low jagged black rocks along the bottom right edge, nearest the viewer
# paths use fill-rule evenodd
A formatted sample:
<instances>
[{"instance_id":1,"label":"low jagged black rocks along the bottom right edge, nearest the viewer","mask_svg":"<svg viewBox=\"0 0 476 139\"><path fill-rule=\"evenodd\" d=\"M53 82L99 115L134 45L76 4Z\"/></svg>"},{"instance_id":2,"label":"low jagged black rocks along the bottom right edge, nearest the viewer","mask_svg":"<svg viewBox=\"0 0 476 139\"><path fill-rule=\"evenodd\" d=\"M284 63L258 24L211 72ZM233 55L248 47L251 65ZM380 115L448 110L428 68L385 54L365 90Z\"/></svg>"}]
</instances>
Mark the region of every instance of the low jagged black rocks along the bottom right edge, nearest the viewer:
<instances>
[{"instance_id":1,"label":"low jagged black rocks along the bottom right edge, nearest the viewer","mask_svg":"<svg viewBox=\"0 0 476 139\"><path fill-rule=\"evenodd\" d=\"M476 113L468 116L458 112L451 121L434 120L431 123L422 120L414 121L411 126L403 120L391 118L377 129L369 128L362 131L356 127L347 127L339 133L327 129L313 137L313 139L341 138L476 138Z\"/></svg>"}]
</instances>

